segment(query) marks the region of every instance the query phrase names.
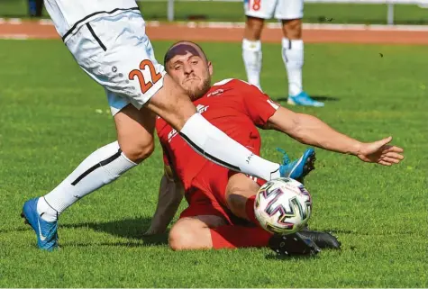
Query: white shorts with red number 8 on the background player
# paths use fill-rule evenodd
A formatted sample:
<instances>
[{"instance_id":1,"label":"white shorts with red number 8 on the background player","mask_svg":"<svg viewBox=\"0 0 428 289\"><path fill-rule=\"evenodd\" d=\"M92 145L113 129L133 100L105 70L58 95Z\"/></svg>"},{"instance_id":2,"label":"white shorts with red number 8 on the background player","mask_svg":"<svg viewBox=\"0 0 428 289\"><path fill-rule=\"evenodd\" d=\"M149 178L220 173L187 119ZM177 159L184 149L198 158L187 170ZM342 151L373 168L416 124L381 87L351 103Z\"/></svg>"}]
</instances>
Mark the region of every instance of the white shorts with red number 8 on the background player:
<instances>
[{"instance_id":1,"label":"white shorts with red number 8 on the background player","mask_svg":"<svg viewBox=\"0 0 428 289\"><path fill-rule=\"evenodd\" d=\"M304 0L244 0L245 15L278 20L302 19Z\"/></svg>"}]
</instances>

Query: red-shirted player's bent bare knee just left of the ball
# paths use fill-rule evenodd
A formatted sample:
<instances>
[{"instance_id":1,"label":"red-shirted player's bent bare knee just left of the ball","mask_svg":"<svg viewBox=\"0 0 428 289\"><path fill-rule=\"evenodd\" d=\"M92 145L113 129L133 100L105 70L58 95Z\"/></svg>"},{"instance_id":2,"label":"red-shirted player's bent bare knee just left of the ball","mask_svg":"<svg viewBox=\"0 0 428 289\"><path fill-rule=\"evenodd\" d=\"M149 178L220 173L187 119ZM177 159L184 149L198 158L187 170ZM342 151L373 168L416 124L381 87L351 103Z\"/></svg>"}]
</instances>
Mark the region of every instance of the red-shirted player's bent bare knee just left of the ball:
<instances>
[{"instance_id":1,"label":"red-shirted player's bent bare knee just left of the ball","mask_svg":"<svg viewBox=\"0 0 428 289\"><path fill-rule=\"evenodd\" d=\"M246 203L250 196L257 194L264 180L241 173L229 178L226 186L226 202L229 209L240 218L247 218Z\"/></svg>"}]
</instances>

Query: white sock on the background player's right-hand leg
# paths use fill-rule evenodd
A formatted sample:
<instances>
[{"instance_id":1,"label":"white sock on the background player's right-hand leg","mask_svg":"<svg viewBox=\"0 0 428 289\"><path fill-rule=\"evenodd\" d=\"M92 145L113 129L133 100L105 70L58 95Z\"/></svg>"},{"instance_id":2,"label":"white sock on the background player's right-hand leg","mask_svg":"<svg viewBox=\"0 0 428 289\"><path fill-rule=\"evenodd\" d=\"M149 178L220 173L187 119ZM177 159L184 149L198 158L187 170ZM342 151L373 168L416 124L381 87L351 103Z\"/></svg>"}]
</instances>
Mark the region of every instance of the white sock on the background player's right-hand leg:
<instances>
[{"instance_id":1,"label":"white sock on the background player's right-hand leg","mask_svg":"<svg viewBox=\"0 0 428 289\"><path fill-rule=\"evenodd\" d=\"M282 59L287 68L288 95L298 95L303 91L302 67L304 45L302 40L282 39Z\"/></svg>"}]
</instances>

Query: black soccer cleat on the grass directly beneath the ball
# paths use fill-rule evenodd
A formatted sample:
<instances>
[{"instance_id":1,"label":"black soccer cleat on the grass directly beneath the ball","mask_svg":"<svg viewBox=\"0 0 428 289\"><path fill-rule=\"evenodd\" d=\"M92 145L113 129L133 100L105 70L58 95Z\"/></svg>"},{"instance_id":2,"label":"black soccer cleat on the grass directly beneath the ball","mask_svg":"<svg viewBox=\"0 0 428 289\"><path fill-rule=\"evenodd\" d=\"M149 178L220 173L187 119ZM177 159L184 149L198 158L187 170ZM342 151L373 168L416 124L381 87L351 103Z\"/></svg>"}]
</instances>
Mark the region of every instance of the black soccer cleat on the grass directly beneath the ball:
<instances>
[{"instance_id":1,"label":"black soccer cleat on the grass directly beneath the ball","mask_svg":"<svg viewBox=\"0 0 428 289\"><path fill-rule=\"evenodd\" d=\"M269 239L269 248L279 256L316 255L321 248L313 240L306 238L300 232L288 235L273 235Z\"/></svg>"}]
</instances>

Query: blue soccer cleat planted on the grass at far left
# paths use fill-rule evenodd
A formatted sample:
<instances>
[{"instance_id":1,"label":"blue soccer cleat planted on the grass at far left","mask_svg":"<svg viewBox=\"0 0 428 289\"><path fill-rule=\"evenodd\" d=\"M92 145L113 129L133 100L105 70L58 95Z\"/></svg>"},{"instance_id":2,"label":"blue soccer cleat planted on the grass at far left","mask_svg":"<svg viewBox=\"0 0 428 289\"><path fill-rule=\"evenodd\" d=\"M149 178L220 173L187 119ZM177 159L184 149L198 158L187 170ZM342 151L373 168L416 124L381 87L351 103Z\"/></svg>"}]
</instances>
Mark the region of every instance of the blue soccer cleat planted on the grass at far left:
<instances>
[{"instance_id":1,"label":"blue soccer cleat planted on the grass at far left","mask_svg":"<svg viewBox=\"0 0 428 289\"><path fill-rule=\"evenodd\" d=\"M39 202L39 198L25 202L21 217L36 232L39 248L52 251L58 248L58 221L44 221L41 219L41 216L37 212L37 202Z\"/></svg>"}]
</instances>

